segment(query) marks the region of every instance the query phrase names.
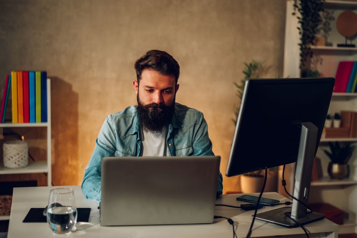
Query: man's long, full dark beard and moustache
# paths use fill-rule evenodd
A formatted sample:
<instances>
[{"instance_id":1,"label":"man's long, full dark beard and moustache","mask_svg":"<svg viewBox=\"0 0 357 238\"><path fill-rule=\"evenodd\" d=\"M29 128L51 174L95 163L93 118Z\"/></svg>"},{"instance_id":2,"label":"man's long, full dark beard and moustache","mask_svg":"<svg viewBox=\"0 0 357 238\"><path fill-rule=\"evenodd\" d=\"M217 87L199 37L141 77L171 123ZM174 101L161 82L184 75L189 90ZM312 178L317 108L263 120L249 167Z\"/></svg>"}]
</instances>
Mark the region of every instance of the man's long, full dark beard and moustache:
<instances>
[{"instance_id":1,"label":"man's long, full dark beard and moustache","mask_svg":"<svg viewBox=\"0 0 357 238\"><path fill-rule=\"evenodd\" d=\"M139 116L140 125L145 132L161 133L169 125L175 110L175 98L170 106L162 103L151 103L144 105L139 99L139 92L136 96L136 112Z\"/></svg>"}]
</instances>

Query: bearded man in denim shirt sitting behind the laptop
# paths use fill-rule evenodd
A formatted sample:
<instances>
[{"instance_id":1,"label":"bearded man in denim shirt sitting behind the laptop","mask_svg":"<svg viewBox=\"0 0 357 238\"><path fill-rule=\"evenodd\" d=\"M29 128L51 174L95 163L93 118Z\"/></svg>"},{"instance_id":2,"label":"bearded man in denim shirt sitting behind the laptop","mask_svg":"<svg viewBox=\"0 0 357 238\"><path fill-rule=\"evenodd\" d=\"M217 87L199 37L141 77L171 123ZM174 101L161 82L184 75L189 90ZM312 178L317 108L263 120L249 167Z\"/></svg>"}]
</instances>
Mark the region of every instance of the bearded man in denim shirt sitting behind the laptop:
<instances>
[{"instance_id":1,"label":"bearded man in denim shirt sitting behind the laptop","mask_svg":"<svg viewBox=\"0 0 357 238\"><path fill-rule=\"evenodd\" d=\"M180 86L177 61L165 51L150 50L135 62L135 70L138 105L106 117L84 170L82 192L87 199L101 200L103 157L214 155L203 114L175 103Z\"/></svg>"}]
</instances>

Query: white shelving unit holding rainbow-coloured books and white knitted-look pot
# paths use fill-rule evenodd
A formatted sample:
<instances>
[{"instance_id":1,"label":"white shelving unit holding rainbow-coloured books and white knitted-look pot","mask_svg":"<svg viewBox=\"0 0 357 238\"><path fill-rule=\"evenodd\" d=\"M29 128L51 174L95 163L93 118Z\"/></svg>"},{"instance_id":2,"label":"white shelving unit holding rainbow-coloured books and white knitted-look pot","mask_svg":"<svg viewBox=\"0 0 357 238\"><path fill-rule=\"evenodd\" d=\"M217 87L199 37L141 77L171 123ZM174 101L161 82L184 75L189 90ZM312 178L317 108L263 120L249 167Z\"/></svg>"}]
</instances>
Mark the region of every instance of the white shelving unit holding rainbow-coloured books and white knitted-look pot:
<instances>
[{"instance_id":1,"label":"white shelving unit holding rainbow-coloured books and white knitted-look pot","mask_svg":"<svg viewBox=\"0 0 357 238\"><path fill-rule=\"evenodd\" d=\"M0 128L20 128L20 127L46 127L47 128L47 158L33 162L29 159L29 165L20 169L8 169L0 163L0 174L29 174L47 173L47 185L51 186L51 80L47 79L47 123L0 123ZM0 217L4 219L6 216Z\"/></svg>"}]
</instances>

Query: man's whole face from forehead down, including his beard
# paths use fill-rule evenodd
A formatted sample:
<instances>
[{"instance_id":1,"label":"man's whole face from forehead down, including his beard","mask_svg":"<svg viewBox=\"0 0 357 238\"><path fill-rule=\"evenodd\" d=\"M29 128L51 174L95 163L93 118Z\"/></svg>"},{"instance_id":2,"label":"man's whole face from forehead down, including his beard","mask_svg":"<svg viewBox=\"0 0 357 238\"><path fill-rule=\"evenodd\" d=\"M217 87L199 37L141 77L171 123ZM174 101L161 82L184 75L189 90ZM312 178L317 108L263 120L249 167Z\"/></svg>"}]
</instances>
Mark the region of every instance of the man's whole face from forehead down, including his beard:
<instances>
[{"instance_id":1,"label":"man's whole face from forehead down, including his beard","mask_svg":"<svg viewBox=\"0 0 357 238\"><path fill-rule=\"evenodd\" d=\"M175 77L154 70L142 71L140 85L133 82L140 124L146 132L160 133L172 119L178 84Z\"/></svg>"}]
</instances>

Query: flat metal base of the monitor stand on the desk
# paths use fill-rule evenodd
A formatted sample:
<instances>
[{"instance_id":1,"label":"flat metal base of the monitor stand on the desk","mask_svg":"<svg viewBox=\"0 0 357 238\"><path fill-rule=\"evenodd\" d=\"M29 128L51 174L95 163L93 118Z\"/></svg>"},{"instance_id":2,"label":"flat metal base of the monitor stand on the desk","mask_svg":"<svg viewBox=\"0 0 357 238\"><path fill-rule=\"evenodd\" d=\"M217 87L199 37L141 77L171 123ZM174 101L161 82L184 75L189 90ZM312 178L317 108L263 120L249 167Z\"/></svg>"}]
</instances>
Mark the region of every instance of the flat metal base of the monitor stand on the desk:
<instances>
[{"instance_id":1,"label":"flat metal base of the monitor stand on the desk","mask_svg":"<svg viewBox=\"0 0 357 238\"><path fill-rule=\"evenodd\" d=\"M296 224L293 220L291 220L289 217L287 217L284 213L286 212L291 212L291 207L282 207L282 208L277 208L273 209L267 212L262 212L258 213L256 215L256 219L259 220L264 220L266 222L271 222L277 225L282 225L287 228L293 228L293 227L298 227L298 224ZM289 214L291 215L291 214ZM315 222L317 220L320 220L325 217L325 214L318 213L318 212L312 212L306 214L305 217L299 218L299 219L294 219L301 225Z\"/></svg>"}]
</instances>

